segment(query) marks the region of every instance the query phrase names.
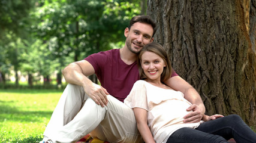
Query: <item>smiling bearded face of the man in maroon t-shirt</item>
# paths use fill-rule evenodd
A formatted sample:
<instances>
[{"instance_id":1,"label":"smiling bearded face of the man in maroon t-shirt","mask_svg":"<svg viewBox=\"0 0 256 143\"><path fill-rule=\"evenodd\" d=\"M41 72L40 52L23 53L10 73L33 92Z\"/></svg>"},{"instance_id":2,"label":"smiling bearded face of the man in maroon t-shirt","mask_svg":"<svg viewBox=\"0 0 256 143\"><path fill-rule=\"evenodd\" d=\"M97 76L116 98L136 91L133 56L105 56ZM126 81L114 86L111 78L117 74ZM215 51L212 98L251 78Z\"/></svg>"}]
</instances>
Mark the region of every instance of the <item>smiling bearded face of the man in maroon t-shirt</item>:
<instances>
[{"instance_id":1,"label":"smiling bearded face of the man in maroon t-shirt","mask_svg":"<svg viewBox=\"0 0 256 143\"><path fill-rule=\"evenodd\" d=\"M146 23L134 23L130 29L125 29L125 45L129 51L138 54L144 45L153 41L153 27Z\"/></svg>"}]
</instances>

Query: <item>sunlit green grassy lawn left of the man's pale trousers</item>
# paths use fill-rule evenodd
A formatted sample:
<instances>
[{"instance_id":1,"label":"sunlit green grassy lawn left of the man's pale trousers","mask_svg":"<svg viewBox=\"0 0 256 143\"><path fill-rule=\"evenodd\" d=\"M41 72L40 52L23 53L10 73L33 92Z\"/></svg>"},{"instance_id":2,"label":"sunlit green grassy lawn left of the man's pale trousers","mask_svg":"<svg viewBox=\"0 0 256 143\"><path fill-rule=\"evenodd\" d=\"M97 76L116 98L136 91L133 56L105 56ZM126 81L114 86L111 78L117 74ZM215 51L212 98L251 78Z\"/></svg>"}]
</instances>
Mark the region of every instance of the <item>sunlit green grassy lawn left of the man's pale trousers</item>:
<instances>
[{"instance_id":1,"label":"sunlit green grassy lawn left of the man's pale trousers","mask_svg":"<svg viewBox=\"0 0 256 143\"><path fill-rule=\"evenodd\" d=\"M0 90L0 142L39 142L63 91Z\"/></svg>"}]
</instances>

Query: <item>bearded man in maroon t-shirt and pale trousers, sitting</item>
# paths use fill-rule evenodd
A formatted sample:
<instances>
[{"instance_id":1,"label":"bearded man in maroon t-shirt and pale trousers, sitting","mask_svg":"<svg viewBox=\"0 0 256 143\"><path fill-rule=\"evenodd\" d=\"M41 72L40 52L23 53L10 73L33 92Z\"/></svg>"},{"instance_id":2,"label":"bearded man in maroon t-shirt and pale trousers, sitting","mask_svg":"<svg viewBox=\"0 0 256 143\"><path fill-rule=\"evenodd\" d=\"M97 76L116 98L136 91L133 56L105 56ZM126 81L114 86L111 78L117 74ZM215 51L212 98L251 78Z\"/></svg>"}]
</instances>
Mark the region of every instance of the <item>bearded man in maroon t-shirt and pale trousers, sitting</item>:
<instances>
[{"instance_id":1,"label":"bearded man in maroon t-shirt and pale trousers, sitting","mask_svg":"<svg viewBox=\"0 0 256 143\"><path fill-rule=\"evenodd\" d=\"M121 49L92 54L63 70L70 83L62 94L44 131L44 142L76 142L91 133L109 142L143 142L134 113L123 103L138 80L137 53L153 41L155 23L149 16L135 16L125 29L127 38ZM87 76L97 74L101 86ZM166 83L183 92L192 102L184 122L198 122L205 108L200 95L176 73Z\"/></svg>"}]
</instances>

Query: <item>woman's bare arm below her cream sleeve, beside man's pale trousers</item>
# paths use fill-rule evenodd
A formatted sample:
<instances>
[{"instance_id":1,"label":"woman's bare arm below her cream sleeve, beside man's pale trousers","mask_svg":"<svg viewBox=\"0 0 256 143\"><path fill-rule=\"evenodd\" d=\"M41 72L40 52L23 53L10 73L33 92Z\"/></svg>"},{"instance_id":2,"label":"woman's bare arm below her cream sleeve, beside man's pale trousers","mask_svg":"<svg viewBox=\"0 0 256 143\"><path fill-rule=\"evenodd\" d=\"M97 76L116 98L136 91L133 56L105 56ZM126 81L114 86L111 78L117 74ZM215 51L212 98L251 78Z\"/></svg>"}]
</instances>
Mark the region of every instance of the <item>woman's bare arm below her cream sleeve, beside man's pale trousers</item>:
<instances>
[{"instance_id":1,"label":"woman's bare arm below her cream sleeve, beside man's pale trousers","mask_svg":"<svg viewBox=\"0 0 256 143\"><path fill-rule=\"evenodd\" d=\"M132 108L137 121L138 131L144 139L145 143L155 143L152 133L150 132L149 126L147 126L147 111L143 108Z\"/></svg>"}]
</instances>

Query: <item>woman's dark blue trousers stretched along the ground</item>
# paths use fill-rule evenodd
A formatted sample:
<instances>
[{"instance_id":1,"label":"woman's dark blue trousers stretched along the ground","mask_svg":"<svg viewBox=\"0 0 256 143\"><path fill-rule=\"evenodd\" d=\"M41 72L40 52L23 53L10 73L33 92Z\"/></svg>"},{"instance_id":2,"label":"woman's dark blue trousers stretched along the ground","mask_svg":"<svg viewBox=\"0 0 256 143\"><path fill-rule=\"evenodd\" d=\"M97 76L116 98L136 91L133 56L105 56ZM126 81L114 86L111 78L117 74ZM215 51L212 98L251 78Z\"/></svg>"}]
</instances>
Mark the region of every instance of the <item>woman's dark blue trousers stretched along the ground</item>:
<instances>
[{"instance_id":1,"label":"woman's dark blue trousers stretched along the ground","mask_svg":"<svg viewBox=\"0 0 256 143\"><path fill-rule=\"evenodd\" d=\"M181 128L168 138L176 142L227 142L234 138L237 143L256 143L256 133L236 114L202 123L198 128Z\"/></svg>"}]
</instances>

